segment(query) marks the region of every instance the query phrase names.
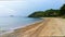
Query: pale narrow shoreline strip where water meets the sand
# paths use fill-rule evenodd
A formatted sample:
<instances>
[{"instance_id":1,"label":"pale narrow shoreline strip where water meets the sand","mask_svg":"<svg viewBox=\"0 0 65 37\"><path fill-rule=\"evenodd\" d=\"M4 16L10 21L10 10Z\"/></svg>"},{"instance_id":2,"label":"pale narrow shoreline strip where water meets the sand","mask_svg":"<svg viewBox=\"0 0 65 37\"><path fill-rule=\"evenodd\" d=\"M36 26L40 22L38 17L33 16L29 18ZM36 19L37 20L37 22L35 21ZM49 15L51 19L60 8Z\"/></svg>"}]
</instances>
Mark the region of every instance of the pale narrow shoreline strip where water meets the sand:
<instances>
[{"instance_id":1,"label":"pale narrow shoreline strip where water meets the sand","mask_svg":"<svg viewBox=\"0 0 65 37\"><path fill-rule=\"evenodd\" d=\"M36 22L34 22L34 23L27 24L27 25L25 25L25 26L15 27L15 28L13 28L13 29L11 29L11 30L6 30L5 33L0 34L0 36L1 36L1 35L4 36L5 34L8 35L8 34L11 34L11 33L14 33L14 32L17 30L17 29L21 29L21 28L30 26L30 25L32 25L32 24L37 24L37 23L42 22L42 21L43 21L43 18L41 18L41 20L39 20L39 21L36 21Z\"/></svg>"}]
</instances>

